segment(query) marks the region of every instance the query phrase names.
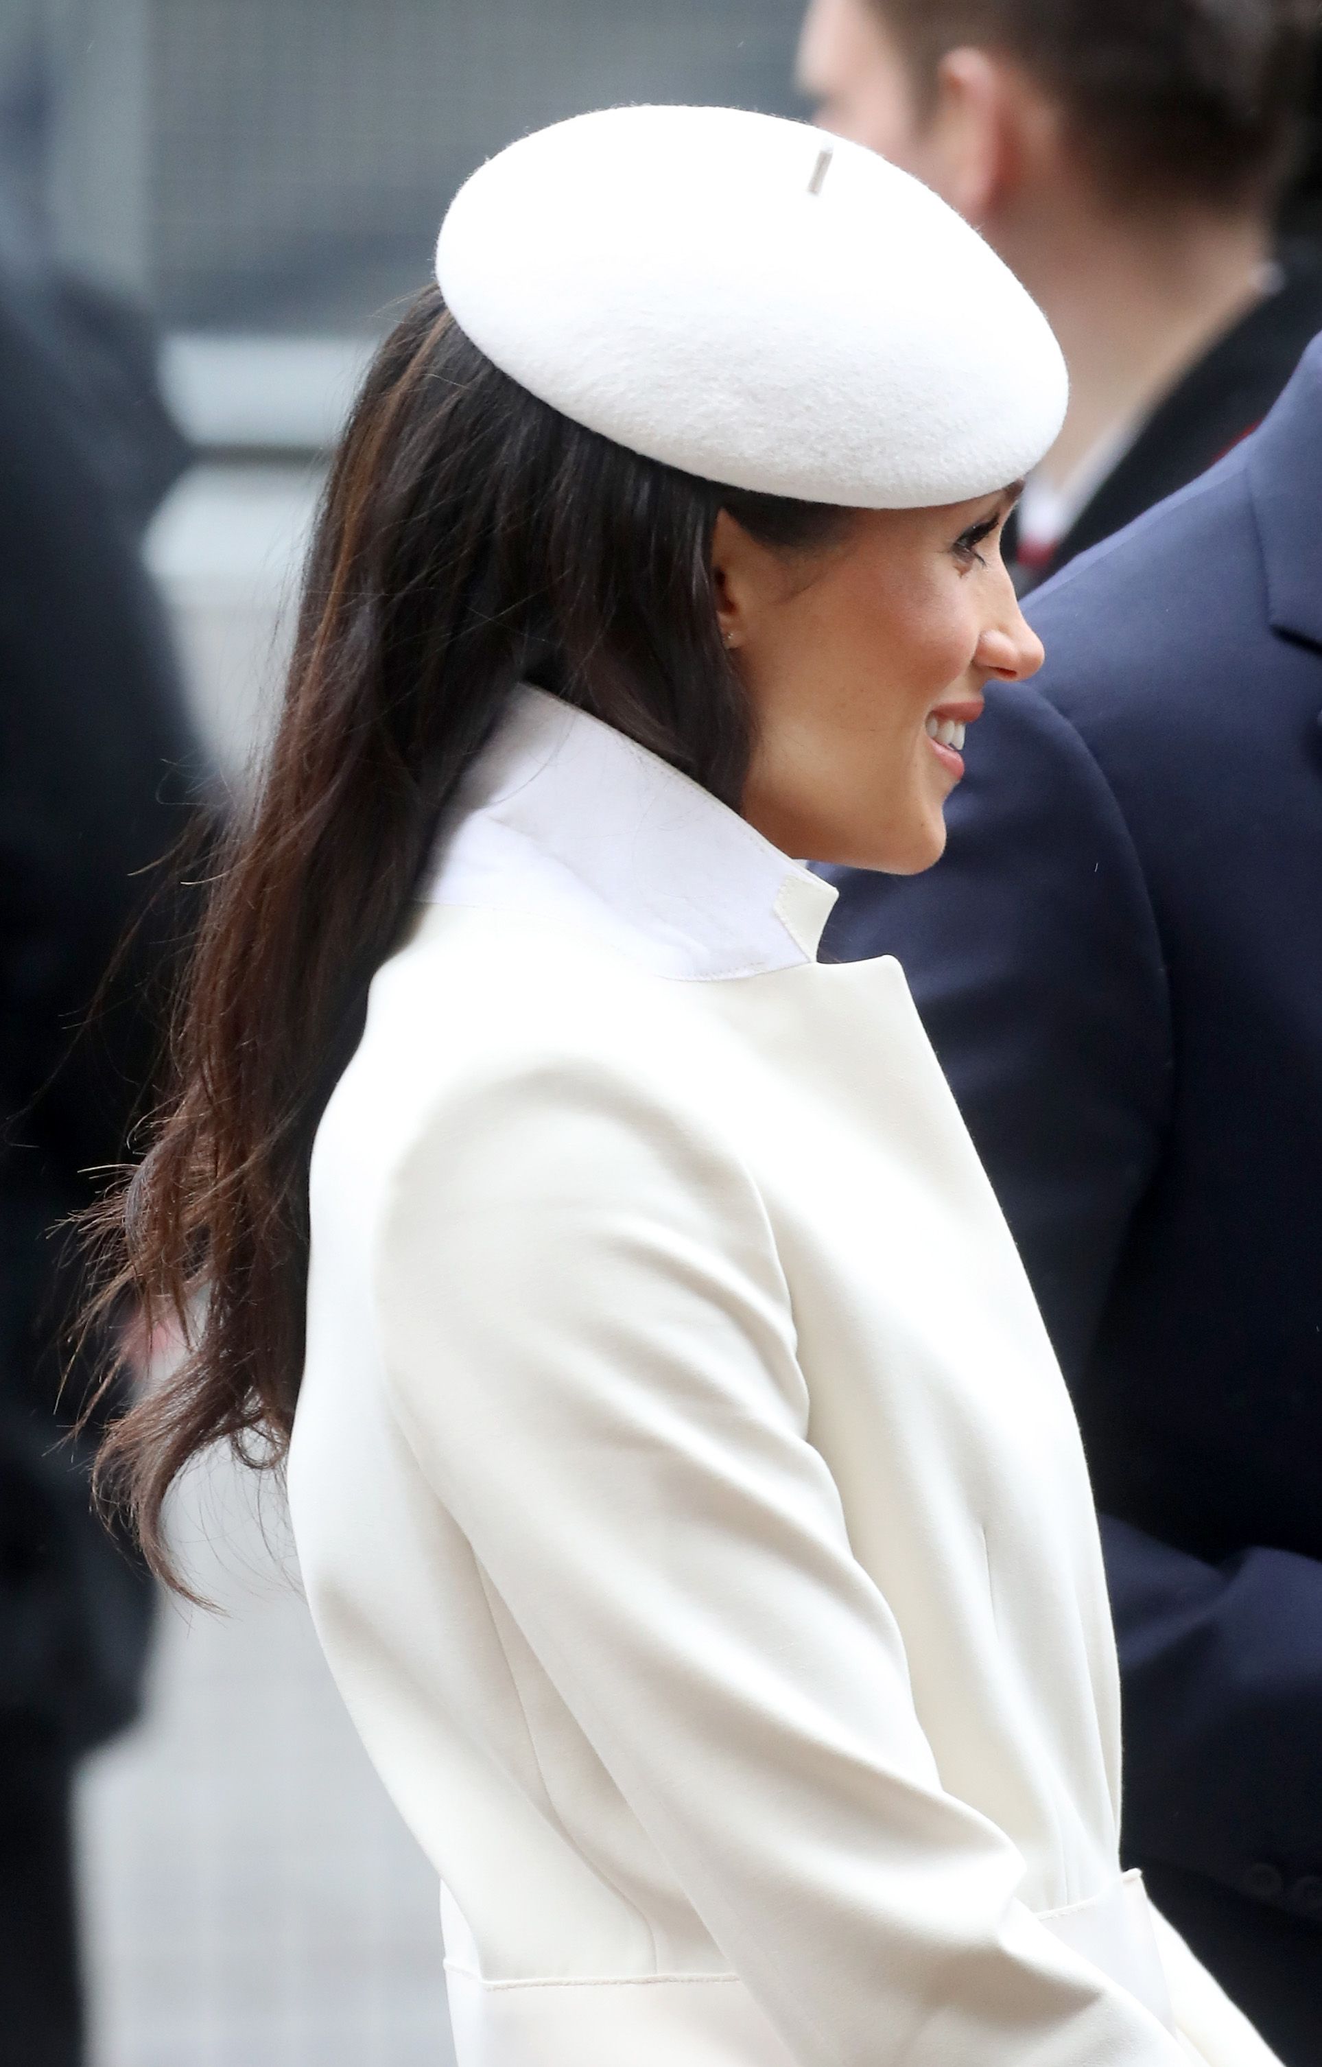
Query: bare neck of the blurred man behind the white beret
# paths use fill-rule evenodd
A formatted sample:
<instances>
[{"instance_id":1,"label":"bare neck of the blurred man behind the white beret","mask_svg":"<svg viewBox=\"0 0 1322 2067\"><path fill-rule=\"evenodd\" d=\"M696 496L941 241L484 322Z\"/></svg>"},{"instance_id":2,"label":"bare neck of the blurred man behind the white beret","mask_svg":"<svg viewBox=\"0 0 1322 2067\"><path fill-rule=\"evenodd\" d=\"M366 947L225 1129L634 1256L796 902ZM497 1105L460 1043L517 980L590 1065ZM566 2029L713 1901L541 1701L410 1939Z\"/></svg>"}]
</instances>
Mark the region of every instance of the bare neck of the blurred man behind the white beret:
<instances>
[{"instance_id":1,"label":"bare neck of the blurred man behind the white beret","mask_svg":"<svg viewBox=\"0 0 1322 2067\"><path fill-rule=\"evenodd\" d=\"M1262 298L1270 256L1258 215L1134 219L1076 194L1070 207L987 223L985 236L1045 312L1070 366L1070 413L1043 461L1056 486L1103 438L1148 415Z\"/></svg>"}]
</instances>

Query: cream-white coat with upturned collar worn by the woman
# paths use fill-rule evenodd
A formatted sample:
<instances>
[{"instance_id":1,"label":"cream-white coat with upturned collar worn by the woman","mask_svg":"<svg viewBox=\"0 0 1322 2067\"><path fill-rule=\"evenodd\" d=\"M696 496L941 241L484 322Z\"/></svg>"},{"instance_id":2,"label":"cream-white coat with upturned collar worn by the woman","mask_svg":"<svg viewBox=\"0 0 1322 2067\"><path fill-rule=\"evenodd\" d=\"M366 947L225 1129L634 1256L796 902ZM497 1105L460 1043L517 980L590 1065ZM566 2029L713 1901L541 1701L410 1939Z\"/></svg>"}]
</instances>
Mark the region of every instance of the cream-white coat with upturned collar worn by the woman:
<instances>
[{"instance_id":1,"label":"cream-white coat with upturned collar worn by the woman","mask_svg":"<svg viewBox=\"0 0 1322 2067\"><path fill-rule=\"evenodd\" d=\"M830 901L523 690L318 1133L293 1528L461 2067L1262 2067L1120 1873L1070 1401Z\"/></svg>"}]
</instances>

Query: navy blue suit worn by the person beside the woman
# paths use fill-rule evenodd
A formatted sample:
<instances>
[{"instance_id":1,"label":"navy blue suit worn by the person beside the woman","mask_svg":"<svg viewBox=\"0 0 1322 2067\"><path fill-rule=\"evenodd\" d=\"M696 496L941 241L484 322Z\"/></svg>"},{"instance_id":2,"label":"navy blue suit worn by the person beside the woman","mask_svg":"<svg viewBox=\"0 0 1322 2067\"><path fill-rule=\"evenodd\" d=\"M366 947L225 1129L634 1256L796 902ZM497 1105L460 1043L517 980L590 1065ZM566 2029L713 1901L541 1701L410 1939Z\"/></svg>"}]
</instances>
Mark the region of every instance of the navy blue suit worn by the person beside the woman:
<instances>
[{"instance_id":1,"label":"navy blue suit worn by the person beside the woman","mask_svg":"<svg viewBox=\"0 0 1322 2067\"><path fill-rule=\"evenodd\" d=\"M1043 587L894 953L1089 1447L1126 1846L1322 2063L1322 339L1246 444ZM956 1267L958 1259L952 1259ZM884 1259L878 1259L884 1267Z\"/></svg>"}]
</instances>

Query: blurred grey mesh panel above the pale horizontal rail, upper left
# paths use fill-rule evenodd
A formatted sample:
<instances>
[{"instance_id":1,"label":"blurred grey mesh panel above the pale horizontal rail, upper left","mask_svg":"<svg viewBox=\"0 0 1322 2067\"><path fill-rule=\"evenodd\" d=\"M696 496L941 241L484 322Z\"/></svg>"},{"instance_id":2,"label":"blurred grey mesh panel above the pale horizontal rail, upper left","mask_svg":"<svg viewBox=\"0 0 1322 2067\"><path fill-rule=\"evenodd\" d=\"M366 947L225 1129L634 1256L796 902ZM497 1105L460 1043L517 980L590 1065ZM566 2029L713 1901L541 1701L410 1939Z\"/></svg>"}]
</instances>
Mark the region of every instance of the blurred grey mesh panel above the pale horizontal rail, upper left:
<instances>
[{"instance_id":1,"label":"blurred grey mesh panel above the pale horizontal rail, upper left","mask_svg":"<svg viewBox=\"0 0 1322 2067\"><path fill-rule=\"evenodd\" d=\"M364 331L500 145L630 99L797 112L799 0L8 0L60 254L167 329ZM10 124L12 128L12 124Z\"/></svg>"}]
</instances>

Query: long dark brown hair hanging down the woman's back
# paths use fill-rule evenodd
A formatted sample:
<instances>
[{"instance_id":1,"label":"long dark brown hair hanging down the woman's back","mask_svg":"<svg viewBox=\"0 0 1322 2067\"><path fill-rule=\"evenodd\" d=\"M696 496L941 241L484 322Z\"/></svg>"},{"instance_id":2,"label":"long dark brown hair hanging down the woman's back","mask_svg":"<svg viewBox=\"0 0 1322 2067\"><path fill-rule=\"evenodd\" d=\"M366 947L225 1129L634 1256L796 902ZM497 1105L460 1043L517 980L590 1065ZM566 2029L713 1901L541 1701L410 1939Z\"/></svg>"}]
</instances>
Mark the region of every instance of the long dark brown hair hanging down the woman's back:
<instances>
[{"instance_id":1,"label":"long dark brown hair hanging down the woman's back","mask_svg":"<svg viewBox=\"0 0 1322 2067\"><path fill-rule=\"evenodd\" d=\"M264 779L215 870L149 1153L93 1220L93 1325L182 1356L109 1426L105 1501L180 1583L178 1472L279 1463L304 1358L312 1137L459 781L521 680L737 808L750 713L711 581L721 506L804 550L839 511L731 494L570 424L428 289L330 471Z\"/></svg>"}]
</instances>

